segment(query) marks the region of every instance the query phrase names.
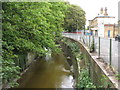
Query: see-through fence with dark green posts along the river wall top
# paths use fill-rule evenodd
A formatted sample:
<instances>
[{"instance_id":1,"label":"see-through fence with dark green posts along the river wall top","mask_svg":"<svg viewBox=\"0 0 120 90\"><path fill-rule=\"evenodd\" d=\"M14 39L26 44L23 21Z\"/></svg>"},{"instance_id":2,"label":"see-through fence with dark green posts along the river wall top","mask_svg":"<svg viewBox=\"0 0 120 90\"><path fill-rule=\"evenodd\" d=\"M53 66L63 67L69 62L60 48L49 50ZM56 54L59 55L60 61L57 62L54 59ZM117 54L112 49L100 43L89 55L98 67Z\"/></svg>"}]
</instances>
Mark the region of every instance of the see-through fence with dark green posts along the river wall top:
<instances>
[{"instance_id":1,"label":"see-through fence with dark green posts along the river wall top","mask_svg":"<svg viewBox=\"0 0 120 90\"><path fill-rule=\"evenodd\" d=\"M88 48L94 39L95 52L98 57L102 58L108 65L112 66L116 71L118 71L118 53L120 42L115 41L111 38L95 37L82 34L64 33L63 36L73 38L81 41Z\"/></svg>"}]
</instances>

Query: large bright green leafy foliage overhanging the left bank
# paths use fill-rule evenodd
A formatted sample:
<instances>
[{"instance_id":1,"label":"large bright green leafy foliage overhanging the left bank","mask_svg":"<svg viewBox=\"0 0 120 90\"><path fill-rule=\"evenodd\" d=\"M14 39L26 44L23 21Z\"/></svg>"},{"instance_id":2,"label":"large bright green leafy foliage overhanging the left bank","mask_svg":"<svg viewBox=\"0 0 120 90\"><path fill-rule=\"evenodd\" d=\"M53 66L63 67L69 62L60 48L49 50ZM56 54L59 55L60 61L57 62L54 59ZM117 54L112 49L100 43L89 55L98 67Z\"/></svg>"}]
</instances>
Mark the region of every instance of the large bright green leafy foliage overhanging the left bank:
<instances>
[{"instance_id":1,"label":"large bright green leafy foliage overhanging the left bank","mask_svg":"<svg viewBox=\"0 0 120 90\"><path fill-rule=\"evenodd\" d=\"M63 31L67 7L64 2L2 3L3 83L17 85L14 79L21 71L16 63L19 54L33 52L43 56L49 49L58 51L55 41Z\"/></svg>"}]
</instances>

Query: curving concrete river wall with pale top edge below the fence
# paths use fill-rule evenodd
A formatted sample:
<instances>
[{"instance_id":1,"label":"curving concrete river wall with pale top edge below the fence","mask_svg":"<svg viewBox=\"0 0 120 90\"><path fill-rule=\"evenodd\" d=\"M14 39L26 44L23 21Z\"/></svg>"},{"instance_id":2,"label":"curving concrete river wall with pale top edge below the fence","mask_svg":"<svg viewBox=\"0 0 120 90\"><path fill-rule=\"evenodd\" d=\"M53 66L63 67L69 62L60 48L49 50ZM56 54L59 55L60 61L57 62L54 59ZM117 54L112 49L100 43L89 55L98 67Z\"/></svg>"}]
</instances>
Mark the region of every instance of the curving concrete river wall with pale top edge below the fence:
<instances>
[{"instance_id":1,"label":"curving concrete river wall with pale top edge below the fence","mask_svg":"<svg viewBox=\"0 0 120 90\"><path fill-rule=\"evenodd\" d=\"M96 58L94 53L90 53L89 49L86 48L80 41L65 37L71 42L78 42L80 45L80 51L84 55L84 60L80 62L80 68L88 67L90 78L92 82L97 86L104 88L118 88L118 80L115 77L114 72L104 64L100 59Z\"/></svg>"}]
</instances>

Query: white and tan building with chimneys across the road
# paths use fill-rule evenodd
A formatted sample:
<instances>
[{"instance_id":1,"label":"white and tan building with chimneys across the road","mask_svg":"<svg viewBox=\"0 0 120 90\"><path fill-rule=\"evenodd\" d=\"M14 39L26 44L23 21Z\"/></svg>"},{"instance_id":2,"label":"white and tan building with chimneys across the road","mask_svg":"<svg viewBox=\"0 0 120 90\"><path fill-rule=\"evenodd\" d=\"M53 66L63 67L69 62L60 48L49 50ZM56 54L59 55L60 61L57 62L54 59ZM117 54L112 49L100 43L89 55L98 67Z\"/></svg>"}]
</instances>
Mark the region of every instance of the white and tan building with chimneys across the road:
<instances>
[{"instance_id":1,"label":"white and tan building with chimneys across the road","mask_svg":"<svg viewBox=\"0 0 120 90\"><path fill-rule=\"evenodd\" d=\"M89 20L91 35L99 37L115 37L118 34L118 25L115 24L115 17L109 16L107 8L101 8L100 14L93 20Z\"/></svg>"}]
</instances>

